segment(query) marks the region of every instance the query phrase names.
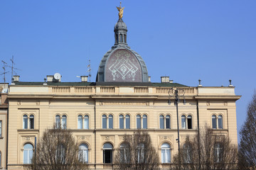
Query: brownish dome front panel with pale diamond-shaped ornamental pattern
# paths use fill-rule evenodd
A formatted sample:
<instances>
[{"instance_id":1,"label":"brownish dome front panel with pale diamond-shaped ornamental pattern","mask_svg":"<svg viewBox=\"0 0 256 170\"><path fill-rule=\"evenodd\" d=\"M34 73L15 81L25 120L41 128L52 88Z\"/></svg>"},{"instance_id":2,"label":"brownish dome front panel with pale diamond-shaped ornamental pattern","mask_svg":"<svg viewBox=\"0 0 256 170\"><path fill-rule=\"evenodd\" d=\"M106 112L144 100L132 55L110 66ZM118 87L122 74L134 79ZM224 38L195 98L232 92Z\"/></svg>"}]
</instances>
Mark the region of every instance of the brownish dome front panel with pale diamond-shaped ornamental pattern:
<instances>
[{"instance_id":1,"label":"brownish dome front panel with pale diamond-shaped ornamental pattern","mask_svg":"<svg viewBox=\"0 0 256 170\"><path fill-rule=\"evenodd\" d=\"M107 60L105 81L142 81L142 69L129 50L115 50Z\"/></svg>"}]
</instances>

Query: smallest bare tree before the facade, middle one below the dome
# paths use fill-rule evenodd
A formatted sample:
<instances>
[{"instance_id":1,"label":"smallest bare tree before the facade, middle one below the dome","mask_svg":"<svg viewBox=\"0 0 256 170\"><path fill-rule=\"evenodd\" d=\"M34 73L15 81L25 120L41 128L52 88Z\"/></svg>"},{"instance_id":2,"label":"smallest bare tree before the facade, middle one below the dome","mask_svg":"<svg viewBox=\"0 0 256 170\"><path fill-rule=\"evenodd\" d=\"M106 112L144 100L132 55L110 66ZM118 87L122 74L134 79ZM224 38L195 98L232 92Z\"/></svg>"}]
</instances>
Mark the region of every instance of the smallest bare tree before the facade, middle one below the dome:
<instances>
[{"instance_id":1,"label":"smallest bare tree before the facade, middle one below the dome","mask_svg":"<svg viewBox=\"0 0 256 170\"><path fill-rule=\"evenodd\" d=\"M150 135L138 130L124 135L124 141L114 159L115 169L153 170L159 168L159 155L153 147Z\"/></svg>"}]
</instances>

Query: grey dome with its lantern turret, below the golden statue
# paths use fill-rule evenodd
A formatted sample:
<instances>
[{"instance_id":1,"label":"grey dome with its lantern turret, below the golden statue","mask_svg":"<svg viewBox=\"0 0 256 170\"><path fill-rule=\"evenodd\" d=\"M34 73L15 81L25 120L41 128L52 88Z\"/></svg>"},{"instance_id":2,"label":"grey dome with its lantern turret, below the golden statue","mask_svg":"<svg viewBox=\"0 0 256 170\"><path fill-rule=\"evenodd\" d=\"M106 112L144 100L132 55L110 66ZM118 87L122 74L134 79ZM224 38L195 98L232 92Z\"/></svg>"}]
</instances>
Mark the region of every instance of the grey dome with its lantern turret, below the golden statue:
<instances>
[{"instance_id":1,"label":"grey dome with its lantern turret, below the golden statue","mask_svg":"<svg viewBox=\"0 0 256 170\"><path fill-rule=\"evenodd\" d=\"M142 57L127 45L127 26L119 18L114 26L114 46L102 58L97 82L142 83L149 82Z\"/></svg>"}]
</instances>

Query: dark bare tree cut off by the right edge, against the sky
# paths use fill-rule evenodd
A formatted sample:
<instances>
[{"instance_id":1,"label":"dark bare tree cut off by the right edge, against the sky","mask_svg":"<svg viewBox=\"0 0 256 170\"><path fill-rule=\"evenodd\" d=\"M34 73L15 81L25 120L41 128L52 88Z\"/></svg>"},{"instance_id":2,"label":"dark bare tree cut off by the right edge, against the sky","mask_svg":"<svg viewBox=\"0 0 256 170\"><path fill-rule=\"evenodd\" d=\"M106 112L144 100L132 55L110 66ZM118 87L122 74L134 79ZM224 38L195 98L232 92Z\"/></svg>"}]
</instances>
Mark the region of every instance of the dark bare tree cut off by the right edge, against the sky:
<instances>
[{"instance_id":1,"label":"dark bare tree cut off by the right edge, against the sky","mask_svg":"<svg viewBox=\"0 0 256 170\"><path fill-rule=\"evenodd\" d=\"M240 137L240 169L256 169L256 91L247 107L247 117L240 130Z\"/></svg>"}]
</instances>

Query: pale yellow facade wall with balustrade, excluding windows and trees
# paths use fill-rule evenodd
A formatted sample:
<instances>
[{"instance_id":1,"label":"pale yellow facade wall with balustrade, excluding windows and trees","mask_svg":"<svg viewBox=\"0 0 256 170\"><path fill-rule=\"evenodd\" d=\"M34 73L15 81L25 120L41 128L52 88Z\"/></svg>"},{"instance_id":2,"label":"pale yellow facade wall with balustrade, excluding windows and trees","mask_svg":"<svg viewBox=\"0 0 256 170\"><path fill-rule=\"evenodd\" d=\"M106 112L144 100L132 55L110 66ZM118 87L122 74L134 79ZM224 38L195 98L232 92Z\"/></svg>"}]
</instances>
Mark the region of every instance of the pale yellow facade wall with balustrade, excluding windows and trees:
<instances>
[{"instance_id":1,"label":"pale yellow facade wall with balustrade, excluding windows and trees","mask_svg":"<svg viewBox=\"0 0 256 170\"><path fill-rule=\"evenodd\" d=\"M185 92L186 105L178 104L178 121L181 146L186 135L195 135L199 126L206 123L212 127L212 115L223 115L223 129L215 129L228 135L234 144L238 144L235 101L235 88L228 87L187 87L173 86L171 83L159 83L157 86L88 86L80 84L61 86L19 84L9 87L9 145L8 169L23 169L23 147L26 143L35 145L47 128L53 127L56 115L67 117L67 127L72 130L78 142L88 146L88 163L92 169L108 169L112 164L103 164L103 145L110 142L113 149L119 148L122 136L137 130L137 115L146 115L146 130L151 135L154 147L158 149L161 160L161 145L171 146L171 159L178 151L177 117L174 96L169 105L168 91L180 89ZM163 86L164 84L164 86ZM182 99L182 98L181 98ZM198 106L198 110L197 110ZM34 116L34 128L23 128L23 115ZM88 115L89 128L78 129L78 115ZM113 128L102 128L102 115L110 119L113 116ZM119 115L130 116L130 128L119 128ZM170 115L169 129L160 128L160 115ZM192 127L181 126L181 116L192 116ZM108 123L108 121L107 121ZM29 125L28 125L29 126ZM165 125L166 126L166 125ZM115 152L114 152L115 153ZM168 164L161 164L168 167Z\"/></svg>"}]
</instances>

